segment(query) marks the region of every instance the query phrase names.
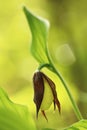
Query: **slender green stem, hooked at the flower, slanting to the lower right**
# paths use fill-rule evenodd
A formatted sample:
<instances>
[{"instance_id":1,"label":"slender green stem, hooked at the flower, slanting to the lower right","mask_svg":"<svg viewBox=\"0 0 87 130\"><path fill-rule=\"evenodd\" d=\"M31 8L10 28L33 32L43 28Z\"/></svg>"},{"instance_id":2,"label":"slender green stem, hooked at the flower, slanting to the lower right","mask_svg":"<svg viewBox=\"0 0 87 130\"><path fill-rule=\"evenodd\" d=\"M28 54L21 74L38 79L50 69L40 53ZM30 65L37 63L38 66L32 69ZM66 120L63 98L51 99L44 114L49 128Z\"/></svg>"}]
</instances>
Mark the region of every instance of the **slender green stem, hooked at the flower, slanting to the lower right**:
<instances>
[{"instance_id":1,"label":"slender green stem, hooked at the flower, slanting to the lower right","mask_svg":"<svg viewBox=\"0 0 87 130\"><path fill-rule=\"evenodd\" d=\"M68 88L68 85L66 84L65 80L63 79L63 77L61 76L59 71L55 68L52 61L50 60L50 64L41 65L38 69L40 70L43 67L47 67L49 70L53 71L58 76L58 78L60 78L60 80L61 80L63 86L65 87L65 90L66 90L66 92L67 92L67 94L69 96L69 99L70 99L70 101L72 103L72 106L73 106L74 112L76 114L76 117L78 118L78 120L83 119L82 114L80 113L79 108L78 108L77 104L75 103L75 101L73 99L73 96L72 96L72 94L71 94L71 92L70 92L70 90Z\"/></svg>"}]
</instances>

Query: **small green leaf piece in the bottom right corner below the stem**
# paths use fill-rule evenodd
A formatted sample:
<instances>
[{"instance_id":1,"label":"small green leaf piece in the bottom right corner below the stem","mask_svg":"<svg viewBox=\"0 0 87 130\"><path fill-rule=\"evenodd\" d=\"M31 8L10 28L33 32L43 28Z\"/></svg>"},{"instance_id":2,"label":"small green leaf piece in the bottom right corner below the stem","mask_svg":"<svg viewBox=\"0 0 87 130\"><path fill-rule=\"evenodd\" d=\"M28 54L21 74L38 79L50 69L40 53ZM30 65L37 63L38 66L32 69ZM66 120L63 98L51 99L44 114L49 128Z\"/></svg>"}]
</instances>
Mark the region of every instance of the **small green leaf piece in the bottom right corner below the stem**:
<instances>
[{"instance_id":1,"label":"small green leaf piece in the bottom right corner below the stem","mask_svg":"<svg viewBox=\"0 0 87 130\"><path fill-rule=\"evenodd\" d=\"M81 120L64 130L87 130L87 120Z\"/></svg>"}]
</instances>

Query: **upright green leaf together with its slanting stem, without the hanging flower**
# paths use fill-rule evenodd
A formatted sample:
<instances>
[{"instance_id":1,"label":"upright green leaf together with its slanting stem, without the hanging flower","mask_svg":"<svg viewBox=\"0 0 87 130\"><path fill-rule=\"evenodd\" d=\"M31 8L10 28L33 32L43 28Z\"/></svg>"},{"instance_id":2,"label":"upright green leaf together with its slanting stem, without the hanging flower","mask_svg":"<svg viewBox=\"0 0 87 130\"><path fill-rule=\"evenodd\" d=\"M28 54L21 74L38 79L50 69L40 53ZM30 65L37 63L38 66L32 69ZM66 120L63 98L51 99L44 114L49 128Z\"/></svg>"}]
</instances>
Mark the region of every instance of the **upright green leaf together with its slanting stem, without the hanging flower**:
<instances>
[{"instance_id":1,"label":"upright green leaf together with its slanting stem, without the hanging flower","mask_svg":"<svg viewBox=\"0 0 87 130\"><path fill-rule=\"evenodd\" d=\"M27 18L27 21L29 23L31 33L32 33L31 53L34 56L34 58L39 62L38 70L41 71L42 68L46 67L47 69L49 69L50 71L55 73L58 76L58 78L60 78L60 80L63 83L63 86L65 87L66 92L71 100L71 103L73 105L77 118L79 120L82 119L82 115L78 109L77 104L75 103L75 101L71 95L68 85L64 81L64 79L61 76L61 74L59 73L59 71L54 66L54 64L52 62L52 58L50 57L50 54L48 52L47 38L48 38L48 31L49 31L49 22L45 19L42 19L38 16L33 15L25 7L24 7L24 12L25 12L25 15L26 15L26 18ZM39 82L40 82L40 80L39 80ZM36 85L34 85L34 87L36 87Z\"/></svg>"}]
</instances>

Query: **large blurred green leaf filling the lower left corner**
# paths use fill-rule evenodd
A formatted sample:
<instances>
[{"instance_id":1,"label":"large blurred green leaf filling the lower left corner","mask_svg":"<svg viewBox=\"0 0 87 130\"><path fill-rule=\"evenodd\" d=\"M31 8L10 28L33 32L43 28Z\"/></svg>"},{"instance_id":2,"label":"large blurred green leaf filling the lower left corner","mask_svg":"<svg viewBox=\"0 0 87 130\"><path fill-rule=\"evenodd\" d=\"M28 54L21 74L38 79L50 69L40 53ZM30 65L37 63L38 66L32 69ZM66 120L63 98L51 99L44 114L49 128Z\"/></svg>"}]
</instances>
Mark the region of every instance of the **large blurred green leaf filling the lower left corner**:
<instances>
[{"instance_id":1,"label":"large blurred green leaf filling the lower left corner","mask_svg":"<svg viewBox=\"0 0 87 130\"><path fill-rule=\"evenodd\" d=\"M0 130L36 130L27 107L17 105L0 88Z\"/></svg>"}]
</instances>

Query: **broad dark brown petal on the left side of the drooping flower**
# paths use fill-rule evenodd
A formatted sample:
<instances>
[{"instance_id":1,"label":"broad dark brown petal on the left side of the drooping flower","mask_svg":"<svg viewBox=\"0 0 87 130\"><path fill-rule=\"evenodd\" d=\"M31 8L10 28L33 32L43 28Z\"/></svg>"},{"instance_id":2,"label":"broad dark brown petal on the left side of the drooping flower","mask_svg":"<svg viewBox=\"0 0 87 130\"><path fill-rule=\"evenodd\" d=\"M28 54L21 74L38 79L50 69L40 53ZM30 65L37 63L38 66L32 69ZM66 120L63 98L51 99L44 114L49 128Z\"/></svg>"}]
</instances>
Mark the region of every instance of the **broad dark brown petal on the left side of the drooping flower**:
<instances>
[{"instance_id":1,"label":"broad dark brown petal on the left side of the drooping flower","mask_svg":"<svg viewBox=\"0 0 87 130\"><path fill-rule=\"evenodd\" d=\"M33 85L34 85L34 102L36 104L36 114L38 117L38 112L41 106L41 102L44 94L44 82L41 72L36 72L33 76Z\"/></svg>"}]
</instances>

